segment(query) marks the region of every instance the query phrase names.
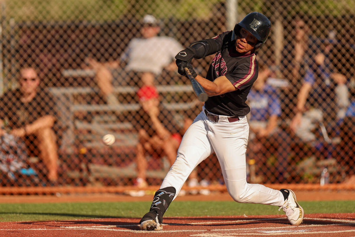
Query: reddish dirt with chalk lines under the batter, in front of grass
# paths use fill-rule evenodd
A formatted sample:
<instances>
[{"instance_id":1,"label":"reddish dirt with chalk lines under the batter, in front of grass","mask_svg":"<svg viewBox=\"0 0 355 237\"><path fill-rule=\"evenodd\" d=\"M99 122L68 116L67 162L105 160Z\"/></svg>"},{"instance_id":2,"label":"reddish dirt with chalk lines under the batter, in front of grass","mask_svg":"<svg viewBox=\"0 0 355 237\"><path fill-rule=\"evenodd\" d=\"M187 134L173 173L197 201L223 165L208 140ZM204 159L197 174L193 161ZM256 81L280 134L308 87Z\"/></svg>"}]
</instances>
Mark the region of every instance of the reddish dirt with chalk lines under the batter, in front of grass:
<instances>
[{"instance_id":1,"label":"reddish dirt with chalk lines under the batter, in front of grass","mask_svg":"<svg viewBox=\"0 0 355 237\"><path fill-rule=\"evenodd\" d=\"M2 222L0 236L355 236L355 214L309 214L300 226L285 216L165 217L162 231L140 231L139 219Z\"/></svg>"}]
</instances>

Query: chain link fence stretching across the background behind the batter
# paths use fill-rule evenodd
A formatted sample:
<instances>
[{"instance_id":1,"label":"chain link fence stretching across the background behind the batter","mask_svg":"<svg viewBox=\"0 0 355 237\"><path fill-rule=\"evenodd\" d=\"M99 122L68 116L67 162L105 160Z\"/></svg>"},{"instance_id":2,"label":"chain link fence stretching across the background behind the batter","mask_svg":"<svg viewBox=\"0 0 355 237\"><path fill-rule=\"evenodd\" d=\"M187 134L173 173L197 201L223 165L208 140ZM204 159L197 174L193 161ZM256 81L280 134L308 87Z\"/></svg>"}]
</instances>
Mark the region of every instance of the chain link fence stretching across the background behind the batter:
<instances>
[{"instance_id":1,"label":"chain link fence stretching across the background behind the batter","mask_svg":"<svg viewBox=\"0 0 355 237\"><path fill-rule=\"evenodd\" d=\"M269 17L272 31L248 97L248 181L351 182L354 9L351 0L1 1L1 185L160 184L203 105L173 55L252 11ZM146 44L155 34L163 40ZM193 61L199 74L213 56ZM190 180L223 183L217 157Z\"/></svg>"}]
</instances>

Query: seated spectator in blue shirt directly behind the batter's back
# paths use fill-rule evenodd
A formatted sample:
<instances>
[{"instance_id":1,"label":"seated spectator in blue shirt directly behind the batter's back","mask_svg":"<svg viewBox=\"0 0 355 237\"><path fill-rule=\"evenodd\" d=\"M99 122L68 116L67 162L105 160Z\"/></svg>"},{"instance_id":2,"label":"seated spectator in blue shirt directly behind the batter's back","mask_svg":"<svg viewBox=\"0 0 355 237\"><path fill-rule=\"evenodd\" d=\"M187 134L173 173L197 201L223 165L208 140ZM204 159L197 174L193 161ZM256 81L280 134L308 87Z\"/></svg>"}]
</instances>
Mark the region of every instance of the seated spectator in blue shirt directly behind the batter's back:
<instances>
[{"instance_id":1,"label":"seated spectator in blue shirt directly behind the batter's back","mask_svg":"<svg viewBox=\"0 0 355 237\"><path fill-rule=\"evenodd\" d=\"M251 108L249 126L250 135L248 145L249 160L255 159L257 175L260 180L252 182L285 181L285 168L289 167L289 136L278 127L278 119L281 115L281 104L278 91L266 84L269 77L275 77L267 66L259 65L259 75L254 82L247 97ZM267 166L267 159L275 153L276 161L274 167L268 172L261 167ZM265 174L268 175L266 179ZM274 175L276 177L272 177Z\"/></svg>"}]
</instances>

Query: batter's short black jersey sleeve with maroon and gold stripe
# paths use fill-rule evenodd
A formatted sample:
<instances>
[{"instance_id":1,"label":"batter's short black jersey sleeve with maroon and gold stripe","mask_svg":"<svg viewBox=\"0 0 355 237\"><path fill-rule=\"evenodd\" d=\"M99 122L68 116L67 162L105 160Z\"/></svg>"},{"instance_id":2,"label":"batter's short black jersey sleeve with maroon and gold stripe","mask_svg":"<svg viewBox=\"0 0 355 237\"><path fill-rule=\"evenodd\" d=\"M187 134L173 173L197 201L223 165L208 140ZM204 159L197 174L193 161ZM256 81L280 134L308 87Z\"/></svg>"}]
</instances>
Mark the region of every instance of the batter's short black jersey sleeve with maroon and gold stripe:
<instances>
[{"instance_id":1,"label":"batter's short black jersey sleeve with maroon and gold stripe","mask_svg":"<svg viewBox=\"0 0 355 237\"><path fill-rule=\"evenodd\" d=\"M239 90L251 86L258 77L256 55L250 57L250 63L241 64L234 70L227 71L225 76Z\"/></svg>"}]
</instances>

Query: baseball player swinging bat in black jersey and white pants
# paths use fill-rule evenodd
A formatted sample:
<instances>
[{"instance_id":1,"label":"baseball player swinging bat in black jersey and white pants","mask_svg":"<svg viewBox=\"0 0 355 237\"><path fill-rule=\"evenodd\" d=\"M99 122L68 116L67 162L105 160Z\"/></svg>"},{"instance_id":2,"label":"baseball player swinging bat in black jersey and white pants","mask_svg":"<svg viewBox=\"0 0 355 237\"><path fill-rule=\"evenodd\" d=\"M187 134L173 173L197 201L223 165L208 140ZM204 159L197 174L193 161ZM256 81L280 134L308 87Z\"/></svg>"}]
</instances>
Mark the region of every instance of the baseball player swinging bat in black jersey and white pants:
<instances>
[{"instance_id":1,"label":"baseball player swinging bat in black jersey and white pants","mask_svg":"<svg viewBox=\"0 0 355 237\"><path fill-rule=\"evenodd\" d=\"M163 229L163 215L171 201L192 170L213 152L228 193L235 201L279 206L292 225L303 221L303 209L292 190L275 190L246 181L249 125L245 115L250 108L245 101L258 76L256 50L265 43L270 29L266 16L252 12L233 31L194 42L175 56L179 74L186 76L184 68L188 68L208 99L182 138L175 163L155 193L149 212L140 221L141 230ZM191 60L211 54L215 56L205 78L193 70Z\"/></svg>"}]
</instances>

